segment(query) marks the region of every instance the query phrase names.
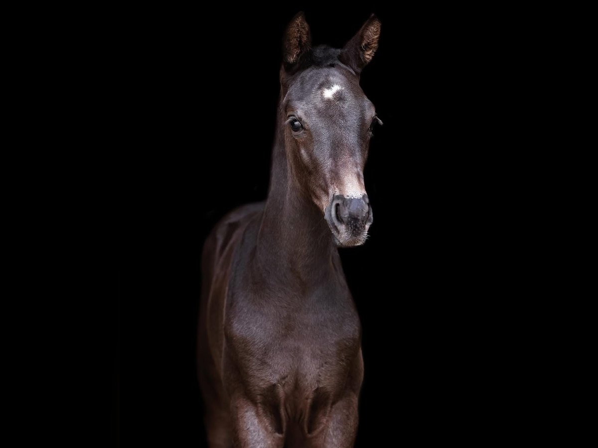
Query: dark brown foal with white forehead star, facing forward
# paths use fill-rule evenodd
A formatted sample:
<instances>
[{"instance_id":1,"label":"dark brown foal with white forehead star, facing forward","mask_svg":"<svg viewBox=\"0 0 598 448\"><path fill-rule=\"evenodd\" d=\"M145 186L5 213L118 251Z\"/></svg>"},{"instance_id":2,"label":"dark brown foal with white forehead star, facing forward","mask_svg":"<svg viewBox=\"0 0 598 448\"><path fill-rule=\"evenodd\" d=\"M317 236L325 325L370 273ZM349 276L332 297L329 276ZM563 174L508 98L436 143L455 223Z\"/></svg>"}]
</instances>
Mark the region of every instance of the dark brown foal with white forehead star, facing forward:
<instances>
[{"instance_id":1,"label":"dark brown foal with white forehead star, facing forward","mask_svg":"<svg viewBox=\"0 0 598 448\"><path fill-rule=\"evenodd\" d=\"M376 111L359 87L372 16L342 49L310 45L302 13L283 41L265 203L228 214L203 251L199 379L210 447L350 447L361 327L337 246L364 243L363 168Z\"/></svg>"}]
</instances>

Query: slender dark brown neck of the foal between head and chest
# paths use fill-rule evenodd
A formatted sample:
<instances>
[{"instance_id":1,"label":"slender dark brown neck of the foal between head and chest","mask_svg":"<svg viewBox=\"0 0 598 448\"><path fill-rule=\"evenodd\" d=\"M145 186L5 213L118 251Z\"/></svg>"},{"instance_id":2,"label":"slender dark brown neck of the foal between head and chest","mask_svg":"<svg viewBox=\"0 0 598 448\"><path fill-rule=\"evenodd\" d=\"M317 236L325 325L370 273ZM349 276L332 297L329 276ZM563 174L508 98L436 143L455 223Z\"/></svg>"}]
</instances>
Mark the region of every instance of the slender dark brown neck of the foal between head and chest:
<instances>
[{"instance_id":1,"label":"slender dark brown neck of the foal between head and chest","mask_svg":"<svg viewBox=\"0 0 598 448\"><path fill-rule=\"evenodd\" d=\"M335 272L337 248L324 219L292 173L285 148L285 114L278 108L270 188L257 239L257 266L287 281L317 283Z\"/></svg>"}]
</instances>

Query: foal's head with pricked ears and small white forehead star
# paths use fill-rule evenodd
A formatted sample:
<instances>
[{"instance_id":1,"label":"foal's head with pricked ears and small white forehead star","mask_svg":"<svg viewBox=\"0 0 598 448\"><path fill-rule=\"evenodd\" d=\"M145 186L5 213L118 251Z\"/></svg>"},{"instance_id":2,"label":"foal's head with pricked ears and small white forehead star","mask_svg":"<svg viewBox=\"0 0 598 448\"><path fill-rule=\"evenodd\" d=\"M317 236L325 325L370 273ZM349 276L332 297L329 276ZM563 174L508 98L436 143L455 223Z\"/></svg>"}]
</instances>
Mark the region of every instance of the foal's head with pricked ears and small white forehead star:
<instances>
[{"instance_id":1,"label":"foal's head with pricked ears and small white forehead star","mask_svg":"<svg viewBox=\"0 0 598 448\"><path fill-rule=\"evenodd\" d=\"M343 50L309 50L306 27L297 16L286 33L286 151L292 174L324 213L335 243L358 246L373 220L363 173L374 125L381 123L359 87L359 73L376 50L380 22L371 17ZM288 65L289 33L291 41L308 42L294 66ZM301 66L302 54L307 66Z\"/></svg>"}]
</instances>

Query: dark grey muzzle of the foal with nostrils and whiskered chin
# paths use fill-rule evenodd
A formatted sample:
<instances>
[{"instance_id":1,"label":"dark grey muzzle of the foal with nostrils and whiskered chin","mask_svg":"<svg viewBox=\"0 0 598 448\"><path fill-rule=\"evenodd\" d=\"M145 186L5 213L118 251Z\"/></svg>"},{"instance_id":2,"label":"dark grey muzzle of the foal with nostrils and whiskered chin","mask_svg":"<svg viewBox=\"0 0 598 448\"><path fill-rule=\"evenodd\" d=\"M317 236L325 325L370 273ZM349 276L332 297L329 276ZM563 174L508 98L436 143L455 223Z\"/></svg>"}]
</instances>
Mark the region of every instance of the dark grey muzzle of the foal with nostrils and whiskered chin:
<instances>
[{"instance_id":1,"label":"dark grey muzzle of the foal with nostrils and whiskered chin","mask_svg":"<svg viewBox=\"0 0 598 448\"><path fill-rule=\"evenodd\" d=\"M324 216L337 246L359 246L367 238L373 221L368 195L346 198L334 195L326 207Z\"/></svg>"}]
</instances>

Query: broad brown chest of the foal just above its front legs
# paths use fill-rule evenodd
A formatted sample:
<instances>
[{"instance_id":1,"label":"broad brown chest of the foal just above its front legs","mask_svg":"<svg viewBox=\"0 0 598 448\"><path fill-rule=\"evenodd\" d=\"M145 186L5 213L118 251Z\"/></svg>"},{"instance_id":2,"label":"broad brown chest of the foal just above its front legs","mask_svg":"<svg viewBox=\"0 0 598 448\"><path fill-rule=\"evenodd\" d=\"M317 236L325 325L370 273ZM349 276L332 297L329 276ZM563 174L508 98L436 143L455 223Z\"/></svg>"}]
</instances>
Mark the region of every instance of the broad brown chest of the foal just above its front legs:
<instances>
[{"instance_id":1,"label":"broad brown chest of the foal just above its front legs","mask_svg":"<svg viewBox=\"0 0 598 448\"><path fill-rule=\"evenodd\" d=\"M347 300L300 305L246 306L227 318L227 346L257 388L295 382L307 388L346 377L359 351L359 319Z\"/></svg>"}]
</instances>

